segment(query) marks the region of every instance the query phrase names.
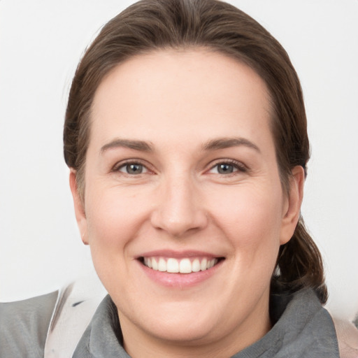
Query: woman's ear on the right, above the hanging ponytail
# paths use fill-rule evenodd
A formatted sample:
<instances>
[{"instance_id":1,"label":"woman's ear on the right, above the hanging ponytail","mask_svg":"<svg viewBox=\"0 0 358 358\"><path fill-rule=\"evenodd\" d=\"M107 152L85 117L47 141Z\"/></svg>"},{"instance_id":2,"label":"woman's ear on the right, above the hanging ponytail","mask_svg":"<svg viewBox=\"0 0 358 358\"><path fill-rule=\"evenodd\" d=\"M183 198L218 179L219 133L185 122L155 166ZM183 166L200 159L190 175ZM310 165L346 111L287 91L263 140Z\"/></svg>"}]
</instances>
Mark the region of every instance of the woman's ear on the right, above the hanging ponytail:
<instances>
[{"instance_id":1,"label":"woman's ear on the right, above the hanging ponytail","mask_svg":"<svg viewBox=\"0 0 358 358\"><path fill-rule=\"evenodd\" d=\"M289 178L289 193L285 194L284 199L280 245L287 243L296 229L301 212L304 182L305 172L302 166L295 166L292 169L292 176Z\"/></svg>"}]
</instances>

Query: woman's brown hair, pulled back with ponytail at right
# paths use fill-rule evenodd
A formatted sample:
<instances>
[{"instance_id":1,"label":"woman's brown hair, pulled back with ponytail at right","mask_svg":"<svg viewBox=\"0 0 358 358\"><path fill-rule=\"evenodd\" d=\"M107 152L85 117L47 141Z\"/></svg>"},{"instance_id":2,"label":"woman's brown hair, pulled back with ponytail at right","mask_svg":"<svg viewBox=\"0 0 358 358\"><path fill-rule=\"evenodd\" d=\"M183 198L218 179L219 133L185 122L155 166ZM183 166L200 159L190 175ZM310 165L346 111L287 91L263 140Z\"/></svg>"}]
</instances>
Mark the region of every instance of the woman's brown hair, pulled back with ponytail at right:
<instances>
[{"instance_id":1,"label":"woman's brown hair, pulled back with ponytail at right","mask_svg":"<svg viewBox=\"0 0 358 358\"><path fill-rule=\"evenodd\" d=\"M282 187L288 190L294 166L303 166L306 172L310 148L301 85L280 43L252 17L222 1L143 0L103 27L73 78L64 124L64 157L76 170L80 194L85 184L91 105L103 77L135 55L190 47L222 52L257 71L271 95L271 130ZM291 240L280 248L275 283L292 292L313 287L320 301L327 301L322 257L302 217Z\"/></svg>"}]
</instances>

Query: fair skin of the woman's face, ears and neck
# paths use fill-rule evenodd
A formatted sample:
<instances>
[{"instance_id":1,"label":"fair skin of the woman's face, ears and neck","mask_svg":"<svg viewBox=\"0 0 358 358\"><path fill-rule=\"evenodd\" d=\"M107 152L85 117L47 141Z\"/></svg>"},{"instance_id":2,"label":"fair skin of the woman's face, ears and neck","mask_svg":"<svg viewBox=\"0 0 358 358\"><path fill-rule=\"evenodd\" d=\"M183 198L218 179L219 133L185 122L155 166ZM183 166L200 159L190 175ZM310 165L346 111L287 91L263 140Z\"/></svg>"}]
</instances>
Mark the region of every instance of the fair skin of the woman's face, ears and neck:
<instances>
[{"instance_id":1,"label":"fair skin of the woman's face, ears and neck","mask_svg":"<svg viewBox=\"0 0 358 358\"><path fill-rule=\"evenodd\" d=\"M91 120L84 202L74 171L70 184L129 355L229 357L264 336L270 279L296 227L304 176L295 167L283 194L263 80L217 52L152 52L102 81ZM142 173L128 173L128 161ZM220 173L226 163L232 173ZM138 260L157 250L224 259L194 284L193 273L166 273L178 280L164 285Z\"/></svg>"}]
</instances>

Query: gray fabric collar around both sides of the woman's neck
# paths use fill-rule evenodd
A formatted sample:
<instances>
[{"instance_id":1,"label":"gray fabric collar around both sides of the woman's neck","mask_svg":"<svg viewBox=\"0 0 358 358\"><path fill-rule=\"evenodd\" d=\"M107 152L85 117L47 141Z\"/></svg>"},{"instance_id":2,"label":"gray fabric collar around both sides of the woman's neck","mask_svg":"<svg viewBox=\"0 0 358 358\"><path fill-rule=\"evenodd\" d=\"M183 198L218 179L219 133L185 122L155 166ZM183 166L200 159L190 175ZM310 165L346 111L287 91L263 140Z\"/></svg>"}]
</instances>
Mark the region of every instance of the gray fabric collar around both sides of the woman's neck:
<instances>
[{"instance_id":1,"label":"gray fabric collar around both sides of the woman's neck","mask_svg":"<svg viewBox=\"0 0 358 358\"><path fill-rule=\"evenodd\" d=\"M274 295L273 315L280 319L257 343L232 358L338 358L338 343L331 316L313 290L290 296ZM129 358L111 327L108 307L102 301L73 358ZM283 312L283 313L282 313Z\"/></svg>"}]
</instances>

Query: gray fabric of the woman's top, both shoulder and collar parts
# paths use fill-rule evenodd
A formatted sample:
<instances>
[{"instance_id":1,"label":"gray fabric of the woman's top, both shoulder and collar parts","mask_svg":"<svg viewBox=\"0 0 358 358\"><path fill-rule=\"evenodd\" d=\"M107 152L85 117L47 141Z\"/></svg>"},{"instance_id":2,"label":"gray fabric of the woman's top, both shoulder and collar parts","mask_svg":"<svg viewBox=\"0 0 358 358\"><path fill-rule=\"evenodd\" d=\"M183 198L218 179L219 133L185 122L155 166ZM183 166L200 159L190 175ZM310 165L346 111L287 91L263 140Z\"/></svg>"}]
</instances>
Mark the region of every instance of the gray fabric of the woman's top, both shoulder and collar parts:
<instances>
[{"instance_id":1,"label":"gray fabric of the woman's top, both shoulder and collar parts","mask_svg":"<svg viewBox=\"0 0 358 358\"><path fill-rule=\"evenodd\" d=\"M56 296L53 293L0 305L1 358L43 357ZM232 358L339 357L334 324L312 290L292 296L274 295L273 315L280 318L271 331ZM96 310L73 358L130 358L113 331L109 296Z\"/></svg>"}]
</instances>

